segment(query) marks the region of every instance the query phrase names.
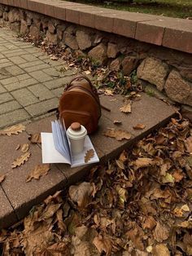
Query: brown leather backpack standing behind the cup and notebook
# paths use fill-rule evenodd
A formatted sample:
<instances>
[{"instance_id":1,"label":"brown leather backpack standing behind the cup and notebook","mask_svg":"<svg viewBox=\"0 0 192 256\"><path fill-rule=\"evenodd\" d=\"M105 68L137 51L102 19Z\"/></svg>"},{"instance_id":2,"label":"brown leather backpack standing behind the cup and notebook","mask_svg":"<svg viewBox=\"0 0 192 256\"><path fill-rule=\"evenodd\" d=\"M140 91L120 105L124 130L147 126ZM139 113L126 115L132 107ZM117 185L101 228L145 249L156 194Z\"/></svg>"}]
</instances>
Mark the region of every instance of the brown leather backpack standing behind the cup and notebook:
<instances>
[{"instance_id":1,"label":"brown leather backpack standing behind the cup and notebook","mask_svg":"<svg viewBox=\"0 0 192 256\"><path fill-rule=\"evenodd\" d=\"M96 88L88 77L73 78L59 100L59 118L63 118L66 129L77 121L91 134L97 130L100 117L101 104Z\"/></svg>"}]
</instances>

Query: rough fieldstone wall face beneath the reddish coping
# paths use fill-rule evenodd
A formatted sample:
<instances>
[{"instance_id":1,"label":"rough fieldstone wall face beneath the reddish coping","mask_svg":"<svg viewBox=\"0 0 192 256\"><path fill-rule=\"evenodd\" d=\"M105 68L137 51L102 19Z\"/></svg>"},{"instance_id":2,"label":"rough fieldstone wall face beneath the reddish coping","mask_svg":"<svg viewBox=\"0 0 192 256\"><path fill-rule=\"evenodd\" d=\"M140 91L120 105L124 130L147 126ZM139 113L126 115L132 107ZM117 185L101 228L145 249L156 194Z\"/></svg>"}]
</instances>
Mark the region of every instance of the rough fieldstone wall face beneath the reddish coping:
<instances>
[{"instance_id":1,"label":"rough fieldstone wall face beneath the reddish coping","mask_svg":"<svg viewBox=\"0 0 192 256\"><path fill-rule=\"evenodd\" d=\"M126 76L137 70L141 82L154 85L174 102L192 106L191 54L2 4L0 25L60 44L78 55L89 55L98 64L122 70Z\"/></svg>"}]
</instances>

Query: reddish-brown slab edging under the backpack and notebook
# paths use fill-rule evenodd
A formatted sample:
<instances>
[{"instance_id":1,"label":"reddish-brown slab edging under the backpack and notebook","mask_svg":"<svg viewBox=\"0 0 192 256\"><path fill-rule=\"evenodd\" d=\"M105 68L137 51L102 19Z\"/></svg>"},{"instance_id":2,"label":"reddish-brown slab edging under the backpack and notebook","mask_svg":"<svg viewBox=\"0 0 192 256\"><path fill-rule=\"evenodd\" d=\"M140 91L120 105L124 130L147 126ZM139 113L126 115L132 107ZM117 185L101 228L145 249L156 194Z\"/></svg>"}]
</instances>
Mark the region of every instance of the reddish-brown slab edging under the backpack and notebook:
<instances>
[{"instance_id":1,"label":"reddish-brown slab edging under the backpack and notebook","mask_svg":"<svg viewBox=\"0 0 192 256\"><path fill-rule=\"evenodd\" d=\"M120 112L120 107L124 104L124 97L121 95L101 96L101 102L107 108L111 108L111 113L103 110L103 115L99 121L98 131L90 138L94 148L98 153L100 163L104 163L117 155L124 149L129 148L138 139L151 133L152 130L164 126L171 117L176 115L176 110L172 106L146 95L141 94L141 99L133 101L132 113ZM0 136L0 174L6 174L6 179L0 188L0 198L2 207L0 208L0 227L9 227L28 214L33 205L37 205L42 200L59 189L66 188L72 183L83 179L85 174L89 174L90 165L70 168L65 164L51 165L51 170L46 176L39 180L33 179L26 183L26 177L33 170L34 166L41 164L41 144L30 144L29 151L31 157L23 166L11 169L11 163L19 157L22 152L15 150L18 144L28 143L28 135L50 132L50 121L55 116L45 117L38 121L33 121L26 126L26 131L20 135ZM120 126L114 125L113 121L122 122ZM146 126L143 130L134 130L133 126L142 123ZM117 141L109 138L103 133L107 128L127 130L132 134L129 140Z\"/></svg>"}]
</instances>

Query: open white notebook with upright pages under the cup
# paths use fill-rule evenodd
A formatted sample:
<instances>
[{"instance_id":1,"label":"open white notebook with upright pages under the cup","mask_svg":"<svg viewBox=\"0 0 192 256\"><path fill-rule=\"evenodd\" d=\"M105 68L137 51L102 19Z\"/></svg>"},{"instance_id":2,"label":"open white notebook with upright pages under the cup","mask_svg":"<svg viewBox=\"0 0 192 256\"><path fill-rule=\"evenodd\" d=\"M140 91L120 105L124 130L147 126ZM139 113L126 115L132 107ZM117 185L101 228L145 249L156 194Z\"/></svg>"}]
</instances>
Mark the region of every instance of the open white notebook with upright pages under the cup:
<instances>
[{"instance_id":1,"label":"open white notebook with upright pages under the cup","mask_svg":"<svg viewBox=\"0 0 192 256\"><path fill-rule=\"evenodd\" d=\"M98 155L91 143L89 136L85 138L84 150L78 154L72 154L71 143L66 133L64 122L51 121L52 133L41 132L41 150L43 163L66 163L71 167L84 166L98 162ZM93 150L92 157L85 160L88 151ZM93 156L94 155L94 156Z\"/></svg>"}]
</instances>

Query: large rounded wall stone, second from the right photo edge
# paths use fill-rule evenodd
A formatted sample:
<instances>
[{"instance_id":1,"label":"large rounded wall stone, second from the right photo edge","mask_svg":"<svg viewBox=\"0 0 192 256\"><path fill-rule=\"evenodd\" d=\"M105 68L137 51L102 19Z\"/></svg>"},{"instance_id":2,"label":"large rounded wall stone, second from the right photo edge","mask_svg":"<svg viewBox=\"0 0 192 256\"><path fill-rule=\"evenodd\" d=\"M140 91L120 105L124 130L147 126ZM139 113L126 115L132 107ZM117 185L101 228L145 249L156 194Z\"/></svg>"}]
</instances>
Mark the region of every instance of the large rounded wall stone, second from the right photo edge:
<instances>
[{"instance_id":1,"label":"large rounded wall stone, second from the right photo edge","mask_svg":"<svg viewBox=\"0 0 192 256\"><path fill-rule=\"evenodd\" d=\"M137 77L154 84L158 90L164 90L168 76L168 65L155 58L146 58L137 68Z\"/></svg>"}]
</instances>

